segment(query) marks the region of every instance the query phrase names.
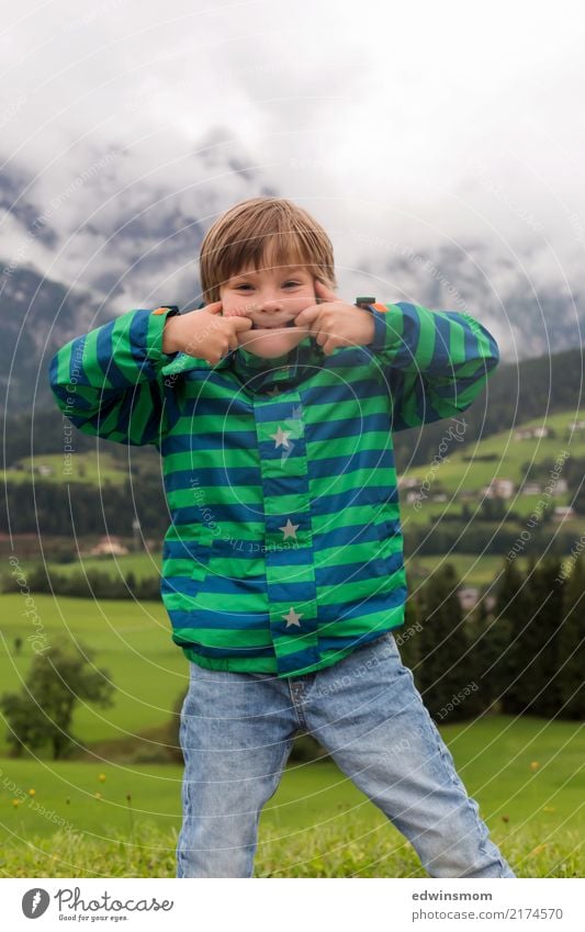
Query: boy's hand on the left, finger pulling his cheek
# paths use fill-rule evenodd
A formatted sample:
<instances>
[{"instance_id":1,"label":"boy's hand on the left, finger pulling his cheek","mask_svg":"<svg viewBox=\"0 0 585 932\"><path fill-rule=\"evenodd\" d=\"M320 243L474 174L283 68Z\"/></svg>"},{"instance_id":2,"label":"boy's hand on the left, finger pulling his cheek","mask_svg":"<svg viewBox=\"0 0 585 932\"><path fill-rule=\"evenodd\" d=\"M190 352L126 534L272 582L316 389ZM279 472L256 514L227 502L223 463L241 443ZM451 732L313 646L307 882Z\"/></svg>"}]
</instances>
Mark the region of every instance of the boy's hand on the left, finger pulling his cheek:
<instances>
[{"instance_id":1,"label":"boy's hand on the left, finger pulling his cheek","mask_svg":"<svg viewBox=\"0 0 585 932\"><path fill-rule=\"evenodd\" d=\"M251 325L244 314L223 317L222 302L214 301L201 311L168 317L162 332L162 351L185 352L215 366L226 352L238 348L238 333L249 330Z\"/></svg>"}]
</instances>

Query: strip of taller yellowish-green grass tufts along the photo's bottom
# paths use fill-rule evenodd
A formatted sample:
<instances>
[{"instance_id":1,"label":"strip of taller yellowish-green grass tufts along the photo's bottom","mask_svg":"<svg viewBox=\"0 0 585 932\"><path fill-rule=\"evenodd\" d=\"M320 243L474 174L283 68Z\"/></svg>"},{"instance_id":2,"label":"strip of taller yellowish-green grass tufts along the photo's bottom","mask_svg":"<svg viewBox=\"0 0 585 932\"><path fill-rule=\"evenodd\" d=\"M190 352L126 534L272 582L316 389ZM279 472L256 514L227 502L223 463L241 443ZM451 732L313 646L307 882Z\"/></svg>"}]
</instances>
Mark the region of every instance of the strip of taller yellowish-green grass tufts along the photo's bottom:
<instances>
[{"instance_id":1,"label":"strip of taller yellowish-green grass tufts along the photo's bottom","mask_svg":"<svg viewBox=\"0 0 585 932\"><path fill-rule=\"evenodd\" d=\"M580 836L542 842L533 831L521 838L493 832L518 877L581 877ZM176 877L176 832L142 826L128 838L102 840L59 832L53 839L8 844L0 854L3 877ZM300 832L293 836L265 832L259 841L255 877L407 877L425 878L414 849L385 820L381 830L364 831L361 820Z\"/></svg>"}]
</instances>

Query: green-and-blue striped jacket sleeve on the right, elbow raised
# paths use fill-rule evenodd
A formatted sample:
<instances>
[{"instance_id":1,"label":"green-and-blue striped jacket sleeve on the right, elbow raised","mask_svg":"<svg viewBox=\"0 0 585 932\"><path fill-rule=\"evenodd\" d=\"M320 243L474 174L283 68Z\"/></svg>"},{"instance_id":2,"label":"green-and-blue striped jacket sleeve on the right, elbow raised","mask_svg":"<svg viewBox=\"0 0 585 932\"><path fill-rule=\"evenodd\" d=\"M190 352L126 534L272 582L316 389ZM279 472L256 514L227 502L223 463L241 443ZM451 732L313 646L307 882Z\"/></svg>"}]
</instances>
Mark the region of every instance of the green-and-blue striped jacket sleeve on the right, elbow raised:
<instances>
[{"instance_id":1,"label":"green-and-blue striped jacket sleeve on the right, elbow raised","mask_svg":"<svg viewBox=\"0 0 585 932\"><path fill-rule=\"evenodd\" d=\"M469 314L407 302L369 310L370 348L389 384L394 431L461 414L499 361L494 337Z\"/></svg>"}]
</instances>

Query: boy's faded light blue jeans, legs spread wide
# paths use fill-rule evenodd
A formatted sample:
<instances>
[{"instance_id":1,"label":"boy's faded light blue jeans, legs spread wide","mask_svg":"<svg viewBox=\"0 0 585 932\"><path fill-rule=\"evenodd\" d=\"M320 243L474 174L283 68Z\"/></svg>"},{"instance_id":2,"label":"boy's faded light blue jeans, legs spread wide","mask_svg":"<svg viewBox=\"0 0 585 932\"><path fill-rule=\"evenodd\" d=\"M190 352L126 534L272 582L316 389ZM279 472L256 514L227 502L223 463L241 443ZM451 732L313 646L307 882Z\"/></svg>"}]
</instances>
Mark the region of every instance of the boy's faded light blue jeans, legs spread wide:
<instances>
[{"instance_id":1,"label":"boy's faded light blue jeans, legs spread wide","mask_svg":"<svg viewBox=\"0 0 585 932\"><path fill-rule=\"evenodd\" d=\"M178 877L254 875L260 812L297 731L317 739L431 877L516 876L490 840L392 633L302 676L189 666Z\"/></svg>"}]
</instances>

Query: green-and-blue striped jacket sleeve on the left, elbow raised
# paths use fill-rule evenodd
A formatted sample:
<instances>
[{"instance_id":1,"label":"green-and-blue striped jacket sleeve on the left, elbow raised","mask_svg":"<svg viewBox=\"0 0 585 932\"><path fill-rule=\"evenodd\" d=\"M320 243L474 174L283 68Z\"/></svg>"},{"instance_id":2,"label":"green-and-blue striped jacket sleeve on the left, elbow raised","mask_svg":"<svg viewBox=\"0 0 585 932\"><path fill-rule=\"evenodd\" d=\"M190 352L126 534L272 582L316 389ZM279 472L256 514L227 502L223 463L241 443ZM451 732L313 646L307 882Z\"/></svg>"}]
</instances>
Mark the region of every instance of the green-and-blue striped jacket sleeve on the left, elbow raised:
<instances>
[{"instance_id":1,"label":"green-and-blue striped jacket sleeve on the left, elbow raised","mask_svg":"<svg viewBox=\"0 0 585 932\"><path fill-rule=\"evenodd\" d=\"M178 355L162 351L162 330L178 310L128 311L55 353L50 389L79 430L117 443L158 445L167 420L161 369Z\"/></svg>"}]
</instances>

